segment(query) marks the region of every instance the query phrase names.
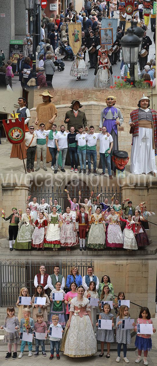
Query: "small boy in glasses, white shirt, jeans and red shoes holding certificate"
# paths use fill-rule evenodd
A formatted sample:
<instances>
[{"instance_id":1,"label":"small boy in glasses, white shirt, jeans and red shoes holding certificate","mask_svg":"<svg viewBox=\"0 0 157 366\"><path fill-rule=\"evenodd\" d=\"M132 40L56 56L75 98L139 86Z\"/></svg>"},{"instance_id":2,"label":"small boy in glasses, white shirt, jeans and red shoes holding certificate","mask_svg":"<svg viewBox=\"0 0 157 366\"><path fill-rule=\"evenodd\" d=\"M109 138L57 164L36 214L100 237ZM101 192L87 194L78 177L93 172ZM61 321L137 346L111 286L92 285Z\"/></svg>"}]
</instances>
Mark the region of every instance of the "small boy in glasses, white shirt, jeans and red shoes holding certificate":
<instances>
[{"instance_id":1,"label":"small boy in glasses, white shirt, jeans and red shoes holding certificate","mask_svg":"<svg viewBox=\"0 0 157 366\"><path fill-rule=\"evenodd\" d=\"M60 360L59 350L60 350L60 338L56 337L56 335L53 335L55 328L61 328L61 325L59 324L59 316L58 315L52 315L52 324L49 326L48 333L51 332L50 338L50 345L51 345L51 355L49 360L53 359L55 347L56 347L56 356L57 360ZM62 328L61 328L62 329ZM62 333L64 333L64 330L61 330Z\"/></svg>"}]
</instances>

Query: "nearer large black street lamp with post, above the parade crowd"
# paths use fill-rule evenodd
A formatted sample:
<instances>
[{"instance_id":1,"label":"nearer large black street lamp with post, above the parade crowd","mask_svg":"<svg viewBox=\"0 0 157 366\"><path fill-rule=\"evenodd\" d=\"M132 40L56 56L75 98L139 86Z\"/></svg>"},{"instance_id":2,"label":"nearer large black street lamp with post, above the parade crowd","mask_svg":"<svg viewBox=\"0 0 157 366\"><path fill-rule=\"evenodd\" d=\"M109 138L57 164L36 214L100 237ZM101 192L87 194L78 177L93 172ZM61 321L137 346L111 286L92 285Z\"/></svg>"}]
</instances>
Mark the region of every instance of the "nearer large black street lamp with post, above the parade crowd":
<instances>
[{"instance_id":1,"label":"nearer large black street lamp with post, above the parade crowd","mask_svg":"<svg viewBox=\"0 0 157 366\"><path fill-rule=\"evenodd\" d=\"M130 64L130 83L132 82L134 85L134 65L137 64L141 40L138 36L135 35L133 25L131 25L131 27L127 29L127 34L121 38L120 44L122 46L124 64Z\"/></svg>"}]
</instances>

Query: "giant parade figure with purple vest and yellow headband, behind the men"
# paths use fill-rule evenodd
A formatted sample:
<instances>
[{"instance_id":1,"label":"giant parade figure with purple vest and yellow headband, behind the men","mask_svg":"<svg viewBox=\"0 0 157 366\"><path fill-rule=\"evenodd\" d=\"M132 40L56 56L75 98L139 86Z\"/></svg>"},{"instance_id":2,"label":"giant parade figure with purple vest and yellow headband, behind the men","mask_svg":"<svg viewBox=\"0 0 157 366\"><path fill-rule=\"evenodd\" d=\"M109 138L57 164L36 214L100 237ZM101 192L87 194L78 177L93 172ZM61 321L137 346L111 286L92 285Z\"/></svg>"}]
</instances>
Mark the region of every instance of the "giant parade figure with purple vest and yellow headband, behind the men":
<instances>
[{"instance_id":1,"label":"giant parade figure with purple vest and yellow headband, behind the men","mask_svg":"<svg viewBox=\"0 0 157 366\"><path fill-rule=\"evenodd\" d=\"M113 150L118 150L118 130L117 126L121 126L124 121L122 113L119 108L113 107L116 103L116 97L108 96L105 98L107 107L101 111L99 130L102 126L106 127L107 132L111 134L113 138ZM117 120L119 118L119 120ZM115 164L111 161L111 169L114 169Z\"/></svg>"}]
</instances>

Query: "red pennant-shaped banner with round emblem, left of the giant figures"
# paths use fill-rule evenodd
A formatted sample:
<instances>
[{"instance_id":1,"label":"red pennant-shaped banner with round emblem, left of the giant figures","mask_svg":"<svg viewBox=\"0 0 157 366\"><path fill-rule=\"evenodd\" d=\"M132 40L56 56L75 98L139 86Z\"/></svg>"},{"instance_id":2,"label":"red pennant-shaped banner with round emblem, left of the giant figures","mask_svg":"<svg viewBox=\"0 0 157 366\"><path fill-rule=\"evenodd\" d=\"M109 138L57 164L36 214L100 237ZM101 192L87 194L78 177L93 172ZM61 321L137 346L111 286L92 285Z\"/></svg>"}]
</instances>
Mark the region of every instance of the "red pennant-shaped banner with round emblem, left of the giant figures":
<instances>
[{"instance_id":1,"label":"red pennant-shaped banner with round emblem, left of the giant figures","mask_svg":"<svg viewBox=\"0 0 157 366\"><path fill-rule=\"evenodd\" d=\"M25 138L25 119L22 118L21 122L18 118L15 120L9 119L8 121L9 123L5 119L2 120L8 141L12 145L21 143Z\"/></svg>"}]
</instances>

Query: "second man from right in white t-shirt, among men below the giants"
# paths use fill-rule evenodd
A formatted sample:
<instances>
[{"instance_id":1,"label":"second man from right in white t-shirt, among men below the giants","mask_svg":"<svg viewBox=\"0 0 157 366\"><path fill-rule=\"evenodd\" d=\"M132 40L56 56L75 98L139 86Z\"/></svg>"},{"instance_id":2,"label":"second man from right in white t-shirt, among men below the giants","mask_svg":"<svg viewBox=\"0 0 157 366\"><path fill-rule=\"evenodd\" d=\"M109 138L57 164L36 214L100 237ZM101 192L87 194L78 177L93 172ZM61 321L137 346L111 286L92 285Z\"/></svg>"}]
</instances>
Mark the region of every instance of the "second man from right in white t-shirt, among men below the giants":
<instances>
[{"instance_id":1,"label":"second man from right in white t-shirt, among men below the giants","mask_svg":"<svg viewBox=\"0 0 157 366\"><path fill-rule=\"evenodd\" d=\"M93 173L97 175L96 168L97 168L97 150L96 150L96 143L97 139L99 138L99 133L94 132L94 126L89 127L90 134L86 135L87 141L87 162L88 162L88 173L91 173L91 156L93 158Z\"/></svg>"}]
</instances>

